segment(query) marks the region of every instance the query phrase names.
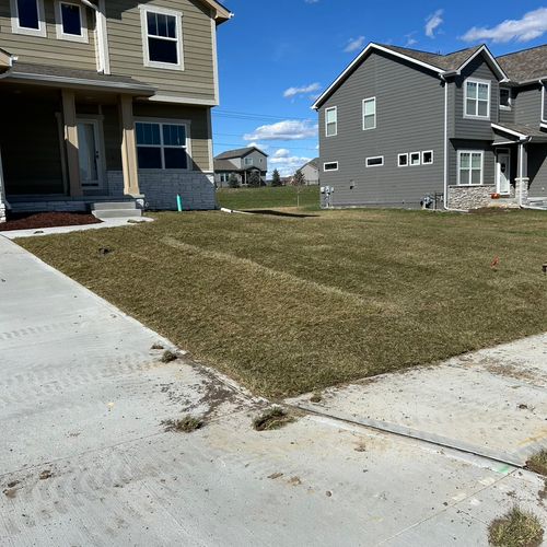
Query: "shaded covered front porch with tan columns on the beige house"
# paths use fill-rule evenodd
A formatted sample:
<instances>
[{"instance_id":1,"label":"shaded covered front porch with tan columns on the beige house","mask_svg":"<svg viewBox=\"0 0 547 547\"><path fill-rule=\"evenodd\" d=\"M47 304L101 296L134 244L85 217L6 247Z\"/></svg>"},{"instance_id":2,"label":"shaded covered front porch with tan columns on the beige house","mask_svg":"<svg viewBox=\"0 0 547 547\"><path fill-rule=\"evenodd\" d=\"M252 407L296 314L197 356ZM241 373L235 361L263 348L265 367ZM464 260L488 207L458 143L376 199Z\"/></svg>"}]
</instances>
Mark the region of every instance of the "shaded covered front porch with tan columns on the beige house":
<instances>
[{"instance_id":1,"label":"shaded covered front porch with tan columns on the beige house","mask_svg":"<svg viewBox=\"0 0 547 547\"><path fill-rule=\"evenodd\" d=\"M0 80L0 208L82 211L141 200L133 101L153 94L130 78L14 63Z\"/></svg>"}]
</instances>

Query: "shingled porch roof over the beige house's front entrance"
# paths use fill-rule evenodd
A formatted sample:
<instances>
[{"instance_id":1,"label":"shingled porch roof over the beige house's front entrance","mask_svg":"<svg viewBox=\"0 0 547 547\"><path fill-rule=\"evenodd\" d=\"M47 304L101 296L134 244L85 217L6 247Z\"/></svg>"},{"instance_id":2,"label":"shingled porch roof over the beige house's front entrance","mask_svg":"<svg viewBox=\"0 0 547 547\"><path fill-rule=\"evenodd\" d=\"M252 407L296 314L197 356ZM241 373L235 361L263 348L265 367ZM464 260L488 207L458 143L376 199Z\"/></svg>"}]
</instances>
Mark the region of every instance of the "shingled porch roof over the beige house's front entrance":
<instances>
[{"instance_id":1,"label":"shingled porch roof over the beige house's front entrance","mask_svg":"<svg viewBox=\"0 0 547 547\"><path fill-rule=\"evenodd\" d=\"M125 75L107 75L94 70L70 69L28 62L14 63L5 80L25 81L42 85L98 88L146 96L151 96L155 93L155 88Z\"/></svg>"}]
</instances>

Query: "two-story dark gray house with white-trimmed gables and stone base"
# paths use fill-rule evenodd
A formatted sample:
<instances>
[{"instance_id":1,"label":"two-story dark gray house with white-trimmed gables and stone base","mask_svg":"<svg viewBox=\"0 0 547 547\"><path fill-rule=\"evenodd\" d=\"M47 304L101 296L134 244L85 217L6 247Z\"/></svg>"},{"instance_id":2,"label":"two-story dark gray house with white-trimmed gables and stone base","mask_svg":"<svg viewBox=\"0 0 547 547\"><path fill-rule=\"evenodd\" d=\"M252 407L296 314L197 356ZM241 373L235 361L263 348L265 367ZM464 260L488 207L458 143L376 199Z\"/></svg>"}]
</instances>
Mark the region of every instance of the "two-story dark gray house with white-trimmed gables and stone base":
<instances>
[{"instance_id":1,"label":"two-story dark gray house with white-trimmed gables and stone base","mask_svg":"<svg viewBox=\"0 0 547 547\"><path fill-rule=\"evenodd\" d=\"M546 82L547 46L494 58L370 44L313 106L329 205L540 207Z\"/></svg>"}]
</instances>

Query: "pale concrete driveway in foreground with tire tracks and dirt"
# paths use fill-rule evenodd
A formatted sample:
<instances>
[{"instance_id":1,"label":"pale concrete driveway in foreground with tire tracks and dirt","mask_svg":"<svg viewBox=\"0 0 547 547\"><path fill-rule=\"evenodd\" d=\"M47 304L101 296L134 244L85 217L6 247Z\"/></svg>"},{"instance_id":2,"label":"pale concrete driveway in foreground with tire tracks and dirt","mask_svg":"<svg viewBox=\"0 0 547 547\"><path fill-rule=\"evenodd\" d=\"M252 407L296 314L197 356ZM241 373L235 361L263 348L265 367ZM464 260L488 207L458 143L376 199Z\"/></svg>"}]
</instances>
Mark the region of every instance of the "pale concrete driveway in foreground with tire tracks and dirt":
<instances>
[{"instance_id":1,"label":"pale concrete driveway in foreground with tire tracks and dirt","mask_svg":"<svg viewBox=\"0 0 547 547\"><path fill-rule=\"evenodd\" d=\"M515 501L547 525L531 473L315 415L258 433L264 400L154 344L0 237L2 545L486 545Z\"/></svg>"}]
</instances>

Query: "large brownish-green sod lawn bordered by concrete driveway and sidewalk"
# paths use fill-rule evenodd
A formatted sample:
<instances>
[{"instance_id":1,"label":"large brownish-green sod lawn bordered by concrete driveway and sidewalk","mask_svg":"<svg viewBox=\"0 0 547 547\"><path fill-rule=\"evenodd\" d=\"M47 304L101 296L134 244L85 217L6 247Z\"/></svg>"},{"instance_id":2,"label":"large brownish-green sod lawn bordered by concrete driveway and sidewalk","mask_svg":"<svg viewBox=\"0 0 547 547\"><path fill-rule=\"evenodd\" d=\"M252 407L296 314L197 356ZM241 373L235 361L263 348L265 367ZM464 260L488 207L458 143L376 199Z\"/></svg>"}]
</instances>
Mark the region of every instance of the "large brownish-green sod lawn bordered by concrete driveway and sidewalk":
<instances>
[{"instance_id":1,"label":"large brownish-green sod lawn bordered by concrete driveway and sidewalk","mask_svg":"<svg viewBox=\"0 0 547 547\"><path fill-rule=\"evenodd\" d=\"M547 330L546 213L314 214L159 213L18 243L272 397Z\"/></svg>"}]
</instances>

